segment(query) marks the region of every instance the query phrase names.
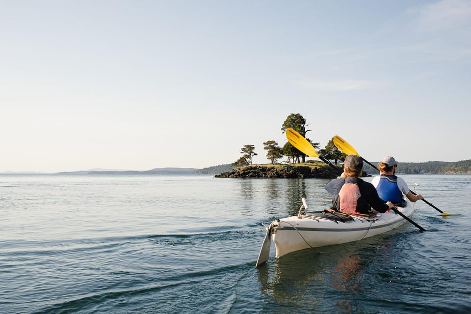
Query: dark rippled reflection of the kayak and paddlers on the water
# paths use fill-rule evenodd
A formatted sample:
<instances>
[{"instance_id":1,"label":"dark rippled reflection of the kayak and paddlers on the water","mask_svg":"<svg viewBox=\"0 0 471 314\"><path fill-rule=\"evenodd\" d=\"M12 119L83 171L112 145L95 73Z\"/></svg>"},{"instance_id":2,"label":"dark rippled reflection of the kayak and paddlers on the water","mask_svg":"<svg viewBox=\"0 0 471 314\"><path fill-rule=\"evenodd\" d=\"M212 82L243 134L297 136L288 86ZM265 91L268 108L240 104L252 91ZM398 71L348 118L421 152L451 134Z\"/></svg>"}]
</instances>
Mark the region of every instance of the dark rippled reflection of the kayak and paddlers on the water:
<instances>
[{"instance_id":1,"label":"dark rippled reflection of the kayak and paddlers on the water","mask_svg":"<svg viewBox=\"0 0 471 314\"><path fill-rule=\"evenodd\" d=\"M316 309L319 313L355 313L366 293L363 281L371 260L382 262L391 253L385 237L368 238L306 249L270 259L259 269L261 291L270 298L271 312L286 306ZM305 312L305 311L301 311Z\"/></svg>"}]
</instances>

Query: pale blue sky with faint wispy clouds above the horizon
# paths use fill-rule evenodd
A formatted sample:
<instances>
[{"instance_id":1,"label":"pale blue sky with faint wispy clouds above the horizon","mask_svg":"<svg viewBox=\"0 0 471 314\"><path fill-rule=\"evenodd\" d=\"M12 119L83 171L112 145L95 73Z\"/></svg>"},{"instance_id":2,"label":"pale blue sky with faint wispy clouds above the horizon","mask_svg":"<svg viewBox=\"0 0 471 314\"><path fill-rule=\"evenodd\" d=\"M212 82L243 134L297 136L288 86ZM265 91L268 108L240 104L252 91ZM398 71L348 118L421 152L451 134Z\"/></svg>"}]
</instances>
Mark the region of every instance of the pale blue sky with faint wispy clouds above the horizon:
<instances>
[{"instance_id":1,"label":"pale blue sky with faint wispy clouds above the horizon","mask_svg":"<svg viewBox=\"0 0 471 314\"><path fill-rule=\"evenodd\" d=\"M264 164L291 113L368 161L471 158L471 0L0 7L0 171Z\"/></svg>"}]
</instances>

